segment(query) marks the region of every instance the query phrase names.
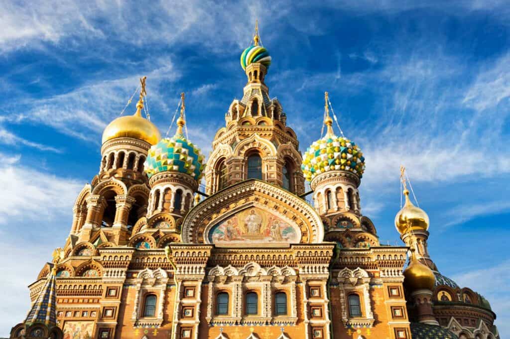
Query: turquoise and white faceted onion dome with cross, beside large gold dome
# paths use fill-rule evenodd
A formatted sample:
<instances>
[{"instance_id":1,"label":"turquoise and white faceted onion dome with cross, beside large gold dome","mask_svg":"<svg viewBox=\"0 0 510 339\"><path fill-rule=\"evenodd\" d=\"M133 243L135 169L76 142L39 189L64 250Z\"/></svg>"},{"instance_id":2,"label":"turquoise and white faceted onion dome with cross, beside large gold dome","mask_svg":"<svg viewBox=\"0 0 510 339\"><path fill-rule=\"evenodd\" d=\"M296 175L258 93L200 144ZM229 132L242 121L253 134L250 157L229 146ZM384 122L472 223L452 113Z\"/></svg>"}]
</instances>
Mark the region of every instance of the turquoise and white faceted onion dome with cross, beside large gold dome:
<instances>
[{"instance_id":1,"label":"turquoise and white faceted onion dome with cross, beside large gold dome","mask_svg":"<svg viewBox=\"0 0 510 339\"><path fill-rule=\"evenodd\" d=\"M150 147L145 160L144 170L149 178L159 172L173 171L191 175L199 181L205 167L205 157L200 149L183 135L184 93L181 94L181 116L177 119L177 133L171 138L161 139Z\"/></svg>"}]
</instances>

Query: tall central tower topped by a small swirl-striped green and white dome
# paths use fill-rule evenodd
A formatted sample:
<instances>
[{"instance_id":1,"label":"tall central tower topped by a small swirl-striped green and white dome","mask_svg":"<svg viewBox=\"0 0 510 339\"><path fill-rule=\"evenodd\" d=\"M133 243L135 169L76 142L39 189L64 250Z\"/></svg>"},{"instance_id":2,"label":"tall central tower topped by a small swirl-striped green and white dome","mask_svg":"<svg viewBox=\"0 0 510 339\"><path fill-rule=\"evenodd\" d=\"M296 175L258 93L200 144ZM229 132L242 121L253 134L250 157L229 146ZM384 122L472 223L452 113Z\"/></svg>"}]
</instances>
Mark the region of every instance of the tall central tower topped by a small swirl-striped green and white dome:
<instances>
[{"instance_id":1,"label":"tall central tower topped by a small swirl-striped green and white dome","mask_svg":"<svg viewBox=\"0 0 510 339\"><path fill-rule=\"evenodd\" d=\"M259 179L297 195L304 192L299 142L286 125L278 99L270 98L265 84L271 64L262 46L258 25L253 44L241 54L247 83L243 97L232 101L225 127L216 133L205 171L208 194L246 179Z\"/></svg>"}]
</instances>

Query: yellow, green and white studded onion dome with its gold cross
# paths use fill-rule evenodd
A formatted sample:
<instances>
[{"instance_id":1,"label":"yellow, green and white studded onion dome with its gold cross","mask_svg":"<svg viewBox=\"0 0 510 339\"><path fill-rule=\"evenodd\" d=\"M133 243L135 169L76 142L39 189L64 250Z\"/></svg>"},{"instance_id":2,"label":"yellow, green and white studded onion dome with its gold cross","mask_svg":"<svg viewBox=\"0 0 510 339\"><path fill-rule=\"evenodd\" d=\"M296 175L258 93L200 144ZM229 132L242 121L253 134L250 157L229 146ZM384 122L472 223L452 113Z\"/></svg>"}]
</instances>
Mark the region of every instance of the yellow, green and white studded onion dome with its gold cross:
<instances>
[{"instance_id":1,"label":"yellow, green and white studded onion dome with its gold cross","mask_svg":"<svg viewBox=\"0 0 510 339\"><path fill-rule=\"evenodd\" d=\"M327 126L326 136L315 141L303 155L301 170L308 181L320 174L332 170L349 171L360 178L365 171L365 157L361 148L354 141L345 137L337 137L333 133L333 119L329 117L327 92L325 93Z\"/></svg>"}]
</instances>

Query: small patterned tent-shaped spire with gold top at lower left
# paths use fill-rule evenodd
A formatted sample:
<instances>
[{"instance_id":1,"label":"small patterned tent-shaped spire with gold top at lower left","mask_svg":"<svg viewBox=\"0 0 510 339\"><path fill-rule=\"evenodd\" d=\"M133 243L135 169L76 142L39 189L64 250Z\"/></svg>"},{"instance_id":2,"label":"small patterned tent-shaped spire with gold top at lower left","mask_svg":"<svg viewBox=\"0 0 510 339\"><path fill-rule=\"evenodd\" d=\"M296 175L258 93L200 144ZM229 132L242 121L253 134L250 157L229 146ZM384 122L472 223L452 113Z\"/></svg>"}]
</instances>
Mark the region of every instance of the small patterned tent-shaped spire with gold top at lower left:
<instances>
[{"instance_id":1,"label":"small patterned tent-shaped spire with gold top at lower left","mask_svg":"<svg viewBox=\"0 0 510 339\"><path fill-rule=\"evenodd\" d=\"M57 286L56 274L57 266L64 257L64 251L61 248L53 251L53 268L48 274L48 278L39 293L35 303L32 305L25 325L29 326L34 323L43 323L48 327L57 325L56 309L57 309Z\"/></svg>"}]
</instances>

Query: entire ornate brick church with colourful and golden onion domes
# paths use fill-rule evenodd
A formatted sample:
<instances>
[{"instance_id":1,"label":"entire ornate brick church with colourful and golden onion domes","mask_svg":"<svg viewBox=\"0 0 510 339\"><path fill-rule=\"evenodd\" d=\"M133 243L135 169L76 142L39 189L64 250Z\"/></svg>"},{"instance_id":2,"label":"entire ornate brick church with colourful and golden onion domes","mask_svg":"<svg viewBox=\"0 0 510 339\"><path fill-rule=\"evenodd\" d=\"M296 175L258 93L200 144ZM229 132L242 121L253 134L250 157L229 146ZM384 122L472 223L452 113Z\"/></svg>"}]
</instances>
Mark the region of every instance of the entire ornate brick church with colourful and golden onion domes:
<instances>
[{"instance_id":1,"label":"entire ornate brick church with colourful and golden onion domes","mask_svg":"<svg viewBox=\"0 0 510 339\"><path fill-rule=\"evenodd\" d=\"M141 80L136 113L106 127L99 172L11 338L499 338L489 302L433 263L428 216L406 189L395 218L405 246L379 243L362 214L362 149L334 134L327 93L326 134L301 155L264 82L270 64L256 29L243 96L207 164L183 134L184 94L162 139L142 117Z\"/></svg>"}]
</instances>

